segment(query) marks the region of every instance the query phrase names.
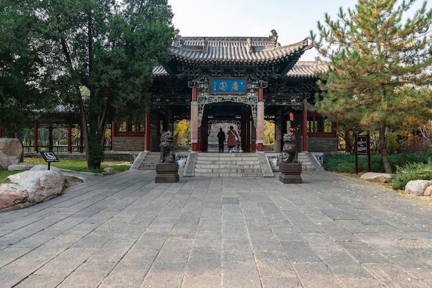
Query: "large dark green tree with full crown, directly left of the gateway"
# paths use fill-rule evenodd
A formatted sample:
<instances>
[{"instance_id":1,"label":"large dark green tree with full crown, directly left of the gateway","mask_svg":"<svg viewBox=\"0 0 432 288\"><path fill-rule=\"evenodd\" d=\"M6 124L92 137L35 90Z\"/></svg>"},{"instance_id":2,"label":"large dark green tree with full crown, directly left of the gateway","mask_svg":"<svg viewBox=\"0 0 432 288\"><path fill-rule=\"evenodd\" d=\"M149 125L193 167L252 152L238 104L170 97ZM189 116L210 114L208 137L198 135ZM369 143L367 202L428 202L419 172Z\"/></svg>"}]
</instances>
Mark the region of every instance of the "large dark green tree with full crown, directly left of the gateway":
<instances>
[{"instance_id":1,"label":"large dark green tree with full crown, directly left of the gateway","mask_svg":"<svg viewBox=\"0 0 432 288\"><path fill-rule=\"evenodd\" d=\"M88 168L99 168L107 123L144 119L153 67L170 56L167 0L11 2L35 19L28 48L40 59L37 87L79 107Z\"/></svg>"}]
</instances>

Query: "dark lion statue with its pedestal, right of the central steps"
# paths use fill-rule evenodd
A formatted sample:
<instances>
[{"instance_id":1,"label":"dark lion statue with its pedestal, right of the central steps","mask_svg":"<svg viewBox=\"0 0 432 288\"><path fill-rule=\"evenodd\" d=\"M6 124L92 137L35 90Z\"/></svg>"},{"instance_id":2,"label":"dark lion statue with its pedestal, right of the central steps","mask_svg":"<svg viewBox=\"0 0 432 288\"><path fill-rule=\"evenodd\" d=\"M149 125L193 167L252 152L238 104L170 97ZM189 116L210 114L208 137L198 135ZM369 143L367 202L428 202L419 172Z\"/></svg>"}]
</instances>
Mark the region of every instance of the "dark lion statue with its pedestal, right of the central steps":
<instances>
[{"instance_id":1,"label":"dark lion statue with its pedestal, right of the central steps","mask_svg":"<svg viewBox=\"0 0 432 288\"><path fill-rule=\"evenodd\" d=\"M284 134L284 147L282 149L282 161L279 163L279 181L284 184L303 183L302 163L297 161L297 145L295 145L294 133Z\"/></svg>"}]
</instances>

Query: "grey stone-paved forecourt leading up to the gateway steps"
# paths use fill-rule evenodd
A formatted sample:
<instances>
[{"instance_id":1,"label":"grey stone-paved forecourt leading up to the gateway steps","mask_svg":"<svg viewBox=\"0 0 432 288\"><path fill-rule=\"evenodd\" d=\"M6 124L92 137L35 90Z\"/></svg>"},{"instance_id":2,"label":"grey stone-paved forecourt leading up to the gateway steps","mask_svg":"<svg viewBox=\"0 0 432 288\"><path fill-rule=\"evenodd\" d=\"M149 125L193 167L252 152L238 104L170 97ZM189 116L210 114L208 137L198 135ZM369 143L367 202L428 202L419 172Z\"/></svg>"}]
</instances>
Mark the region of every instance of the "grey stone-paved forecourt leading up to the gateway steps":
<instances>
[{"instance_id":1,"label":"grey stone-paved forecourt leading up to the gateway steps","mask_svg":"<svg viewBox=\"0 0 432 288\"><path fill-rule=\"evenodd\" d=\"M432 205L328 172L137 170L0 214L1 287L432 287Z\"/></svg>"}]
</instances>

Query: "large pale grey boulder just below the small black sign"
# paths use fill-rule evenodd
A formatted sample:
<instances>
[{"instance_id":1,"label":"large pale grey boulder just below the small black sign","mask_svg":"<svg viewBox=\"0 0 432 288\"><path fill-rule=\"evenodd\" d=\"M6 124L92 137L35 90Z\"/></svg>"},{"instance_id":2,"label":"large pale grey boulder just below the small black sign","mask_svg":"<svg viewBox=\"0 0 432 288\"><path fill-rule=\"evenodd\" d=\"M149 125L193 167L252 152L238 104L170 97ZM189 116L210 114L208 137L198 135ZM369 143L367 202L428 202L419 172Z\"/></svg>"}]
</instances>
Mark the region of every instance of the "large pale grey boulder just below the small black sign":
<instances>
[{"instance_id":1,"label":"large pale grey boulder just below the small black sign","mask_svg":"<svg viewBox=\"0 0 432 288\"><path fill-rule=\"evenodd\" d=\"M8 179L26 189L28 199L32 204L54 198L63 191L63 179L52 170L24 171L10 175Z\"/></svg>"}]
</instances>

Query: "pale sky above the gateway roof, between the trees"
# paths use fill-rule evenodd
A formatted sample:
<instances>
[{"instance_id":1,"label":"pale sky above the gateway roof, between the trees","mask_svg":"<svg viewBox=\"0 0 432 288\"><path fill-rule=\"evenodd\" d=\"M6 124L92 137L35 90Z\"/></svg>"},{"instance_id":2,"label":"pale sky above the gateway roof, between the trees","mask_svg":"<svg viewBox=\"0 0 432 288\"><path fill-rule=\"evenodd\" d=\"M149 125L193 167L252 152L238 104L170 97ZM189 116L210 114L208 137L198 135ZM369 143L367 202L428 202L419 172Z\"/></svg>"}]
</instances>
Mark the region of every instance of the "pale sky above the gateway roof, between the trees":
<instances>
[{"instance_id":1,"label":"pale sky above the gateway roof, between the trees","mask_svg":"<svg viewBox=\"0 0 432 288\"><path fill-rule=\"evenodd\" d=\"M413 8L420 7L417 0ZM354 8L357 0L168 0L173 25L184 37L267 37L275 29L281 45L300 42L317 32L327 12L336 19L339 8ZM432 7L432 3L428 4ZM302 61L313 61L315 49Z\"/></svg>"}]
</instances>

